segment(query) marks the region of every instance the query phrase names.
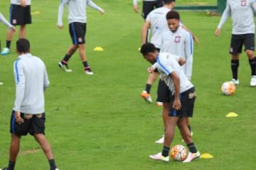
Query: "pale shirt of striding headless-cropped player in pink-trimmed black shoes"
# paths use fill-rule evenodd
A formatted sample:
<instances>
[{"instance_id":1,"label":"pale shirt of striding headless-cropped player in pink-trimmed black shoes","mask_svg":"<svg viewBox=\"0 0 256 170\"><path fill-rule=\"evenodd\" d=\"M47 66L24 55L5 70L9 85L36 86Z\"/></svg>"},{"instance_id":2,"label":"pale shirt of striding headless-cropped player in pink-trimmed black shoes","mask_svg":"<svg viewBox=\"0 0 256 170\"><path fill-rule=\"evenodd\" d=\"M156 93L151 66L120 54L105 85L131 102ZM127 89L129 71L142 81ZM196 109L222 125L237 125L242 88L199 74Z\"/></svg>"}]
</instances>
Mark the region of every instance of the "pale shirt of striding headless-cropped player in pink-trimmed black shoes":
<instances>
[{"instance_id":1,"label":"pale shirt of striding headless-cropped player in pink-trimmed black shoes","mask_svg":"<svg viewBox=\"0 0 256 170\"><path fill-rule=\"evenodd\" d=\"M86 6L103 11L92 0L60 0L58 8L58 26L63 25L64 6L68 5L68 23L87 23Z\"/></svg>"}]
</instances>

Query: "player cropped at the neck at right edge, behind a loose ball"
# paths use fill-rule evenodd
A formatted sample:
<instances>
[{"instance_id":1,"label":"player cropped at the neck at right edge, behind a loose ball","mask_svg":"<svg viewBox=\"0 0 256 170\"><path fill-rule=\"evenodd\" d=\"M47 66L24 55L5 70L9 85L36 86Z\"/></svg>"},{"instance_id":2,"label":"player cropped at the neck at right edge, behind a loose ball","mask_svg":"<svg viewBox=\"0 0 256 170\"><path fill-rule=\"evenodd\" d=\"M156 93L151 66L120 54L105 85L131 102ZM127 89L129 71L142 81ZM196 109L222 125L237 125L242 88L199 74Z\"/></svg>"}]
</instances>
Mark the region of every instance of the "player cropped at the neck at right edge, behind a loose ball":
<instances>
[{"instance_id":1,"label":"player cropped at the neck at right edge, behind a loose ball","mask_svg":"<svg viewBox=\"0 0 256 170\"><path fill-rule=\"evenodd\" d=\"M232 35L230 42L232 81L239 84L238 67L239 56L242 52L242 45L245 45L245 52L251 68L250 86L256 86L256 58L255 58L255 21L256 14L255 0L228 0L220 23L215 30L215 35L220 35L228 16L232 20Z\"/></svg>"}]
</instances>

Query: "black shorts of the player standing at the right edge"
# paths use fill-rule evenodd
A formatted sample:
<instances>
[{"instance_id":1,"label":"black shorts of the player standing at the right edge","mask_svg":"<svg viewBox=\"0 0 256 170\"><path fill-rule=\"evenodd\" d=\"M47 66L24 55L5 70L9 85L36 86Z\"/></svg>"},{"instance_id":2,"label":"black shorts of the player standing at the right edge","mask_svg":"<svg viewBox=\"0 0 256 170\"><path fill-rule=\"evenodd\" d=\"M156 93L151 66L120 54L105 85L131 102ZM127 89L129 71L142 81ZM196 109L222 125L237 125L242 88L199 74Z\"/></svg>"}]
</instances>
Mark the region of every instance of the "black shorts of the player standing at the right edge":
<instances>
[{"instance_id":1,"label":"black shorts of the player standing at the right edge","mask_svg":"<svg viewBox=\"0 0 256 170\"><path fill-rule=\"evenodd\" d=\"M232 35L230 42L230 54L237 55L242 52L242 45L245 45L245 50L255 50L255 35L242 34L242 35Z\"/></svg>"}]
</instances>

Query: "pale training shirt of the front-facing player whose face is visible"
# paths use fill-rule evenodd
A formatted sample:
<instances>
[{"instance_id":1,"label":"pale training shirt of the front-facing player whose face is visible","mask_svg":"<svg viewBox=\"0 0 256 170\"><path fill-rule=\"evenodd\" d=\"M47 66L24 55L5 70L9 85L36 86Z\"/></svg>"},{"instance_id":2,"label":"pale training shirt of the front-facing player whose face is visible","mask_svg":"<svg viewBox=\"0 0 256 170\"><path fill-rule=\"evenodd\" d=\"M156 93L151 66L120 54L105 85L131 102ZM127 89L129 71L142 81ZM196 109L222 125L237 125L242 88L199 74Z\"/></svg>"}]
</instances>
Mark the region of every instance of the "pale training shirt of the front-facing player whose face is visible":
<instances>
[{"instance_id":1,"label":"pale training shirt of the front-facing player whose face is visible","mask_svg":"<svg viewBox=\"0 0 256 170\"><path fill-rule=\"evenodd\" d=\"M186 60L182 66L183 72L191 80L193 69L193 37L191 33L181 26L175 32L165 31L161 36L160 51L183 57Z\"/></svg>"}]
</instances>

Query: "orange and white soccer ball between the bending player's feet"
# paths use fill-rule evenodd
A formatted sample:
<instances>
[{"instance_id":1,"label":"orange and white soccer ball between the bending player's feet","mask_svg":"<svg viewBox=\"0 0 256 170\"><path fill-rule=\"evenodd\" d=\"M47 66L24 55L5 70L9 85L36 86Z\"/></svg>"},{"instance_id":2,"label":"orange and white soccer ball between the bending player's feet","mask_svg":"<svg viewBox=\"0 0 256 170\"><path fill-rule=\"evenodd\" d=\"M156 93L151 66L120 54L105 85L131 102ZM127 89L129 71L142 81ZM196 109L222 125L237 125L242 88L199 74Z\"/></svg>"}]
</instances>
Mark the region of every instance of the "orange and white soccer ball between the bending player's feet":
<instances>
[{"instance_id":1,"label":"orange and white soccer ball between the bending player's feet","mask_svg":"<svg viewBox=\"0 0 256 170\"><path fill-rule=\"evenodd\" d=\"M170 156L175 161L183 161L188 155L186 147L183 145L175 145L171 148Z\"/></svg>"}]
</instances>

